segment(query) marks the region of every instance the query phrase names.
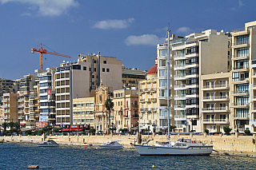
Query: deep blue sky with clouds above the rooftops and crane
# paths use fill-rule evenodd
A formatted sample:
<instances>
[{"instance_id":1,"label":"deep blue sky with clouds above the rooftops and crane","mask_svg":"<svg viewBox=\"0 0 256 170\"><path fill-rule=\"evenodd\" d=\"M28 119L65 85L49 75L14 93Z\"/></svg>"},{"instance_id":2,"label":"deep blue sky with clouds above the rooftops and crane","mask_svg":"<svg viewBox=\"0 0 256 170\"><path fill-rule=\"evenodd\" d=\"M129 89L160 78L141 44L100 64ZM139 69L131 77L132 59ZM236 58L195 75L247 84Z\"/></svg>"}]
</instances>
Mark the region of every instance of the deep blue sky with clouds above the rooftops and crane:
<instances>
[{"instance_id":1,"label":"deep blue sky with clouds above the rooftops and crane","mask_svg":"<svg viewBox=\"0 0 256 170\"><path fill-rule=\"evenodd\" d=\"M0 77L14 80L39 69L39 53L30 49L40 43L71 57L45 54L44 68L100 51L148 70L168 23L178 36L232 31L256 20L255 6L254 0L0 0Z\"/></svg>"}]
</instances>

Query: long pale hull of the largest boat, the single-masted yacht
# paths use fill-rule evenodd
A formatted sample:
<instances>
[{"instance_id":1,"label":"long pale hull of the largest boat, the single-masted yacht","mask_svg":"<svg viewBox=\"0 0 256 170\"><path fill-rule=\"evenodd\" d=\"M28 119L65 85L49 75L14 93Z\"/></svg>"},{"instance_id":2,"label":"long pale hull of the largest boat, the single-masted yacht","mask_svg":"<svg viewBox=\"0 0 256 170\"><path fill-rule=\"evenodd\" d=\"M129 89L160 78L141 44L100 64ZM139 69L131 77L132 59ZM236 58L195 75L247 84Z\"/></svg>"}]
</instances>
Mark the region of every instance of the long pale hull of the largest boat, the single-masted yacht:
<instances>
[{"instance_id":1,"label":"long pale hull of the largest boat, the single-masted yacht","mask_svg":"<svg viewBox=\"0 0 256 170\"><path fill-rule=\"evenodd\" d=\"M213 146L174 148L134 144L134 147L140 156L209 156L213 151Z\"/></svg>"}]
</instances>

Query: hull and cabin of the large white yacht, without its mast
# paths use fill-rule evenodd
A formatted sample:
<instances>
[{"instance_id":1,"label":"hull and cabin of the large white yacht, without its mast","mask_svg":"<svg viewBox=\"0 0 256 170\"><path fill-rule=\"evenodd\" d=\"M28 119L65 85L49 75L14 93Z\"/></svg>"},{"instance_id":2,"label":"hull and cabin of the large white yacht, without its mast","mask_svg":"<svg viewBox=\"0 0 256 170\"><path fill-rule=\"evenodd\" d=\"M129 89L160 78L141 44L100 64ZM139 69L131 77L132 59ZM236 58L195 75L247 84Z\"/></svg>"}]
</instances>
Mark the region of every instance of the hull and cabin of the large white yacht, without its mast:
<instances>
[{"instance_id":1,"label":"hull and cabin of the large white yacht, without its mast","mask_svg":"<svg viewBox=\"0 0 256 170\"><path fill-rule=\"evenodd\" d=\"M141 156L209 156L213 151L212 145L197 143L189 138L180 138L177 142L158 142L158 144L134 144Z\"/></svg>"}]
</instances>

